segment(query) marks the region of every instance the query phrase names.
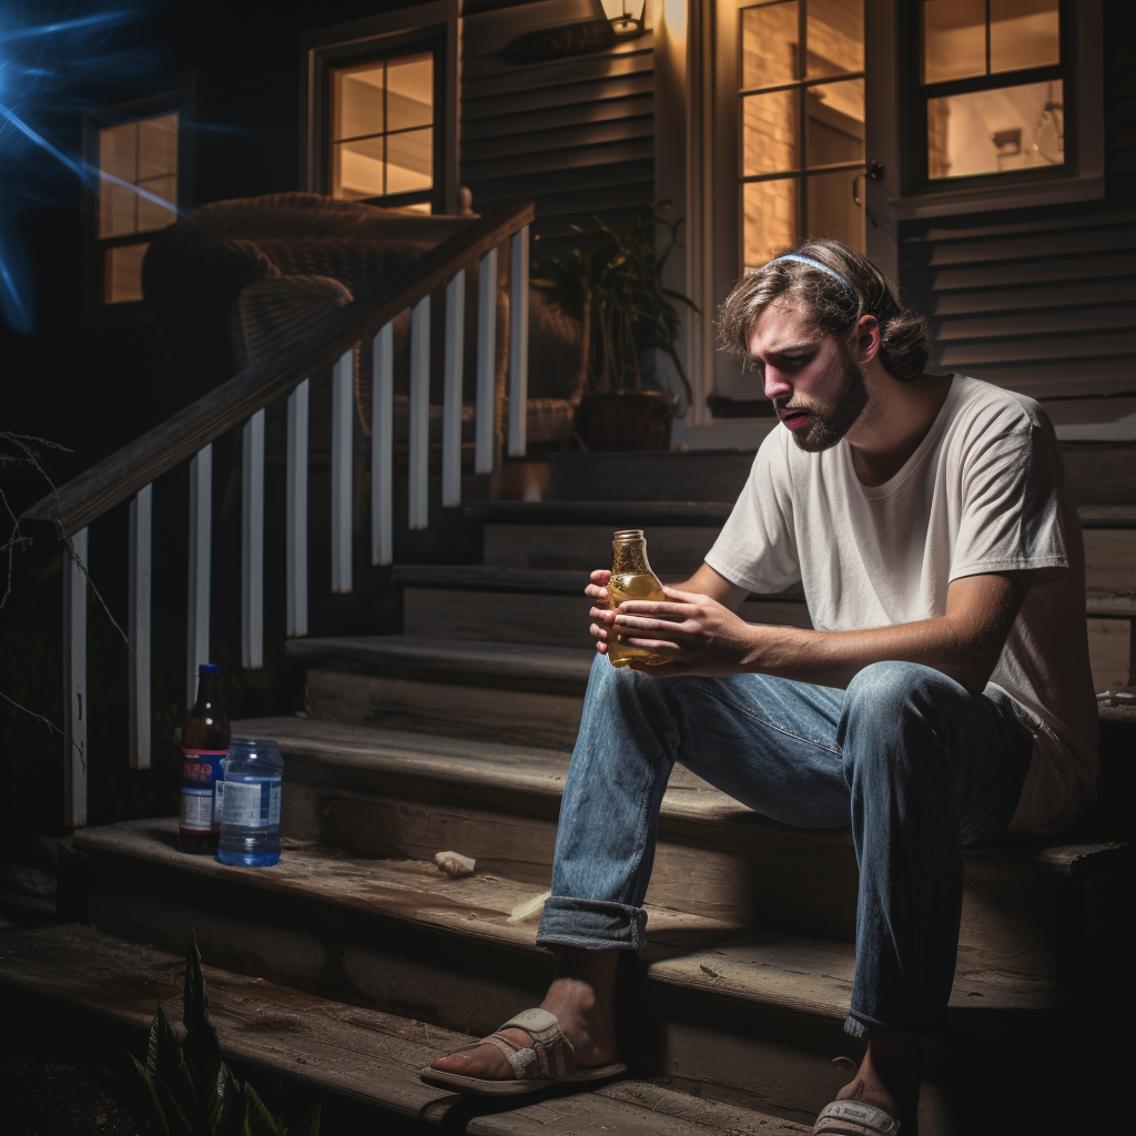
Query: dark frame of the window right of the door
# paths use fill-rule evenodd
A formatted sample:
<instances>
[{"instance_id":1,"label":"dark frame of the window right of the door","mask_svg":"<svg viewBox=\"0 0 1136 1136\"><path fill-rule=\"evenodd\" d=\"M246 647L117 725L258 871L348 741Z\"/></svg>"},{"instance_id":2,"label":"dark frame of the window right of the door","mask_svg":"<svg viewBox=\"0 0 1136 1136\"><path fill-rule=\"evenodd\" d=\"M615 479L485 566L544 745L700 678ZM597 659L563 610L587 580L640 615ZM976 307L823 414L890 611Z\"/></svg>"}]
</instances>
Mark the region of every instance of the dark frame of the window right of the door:
<instances>
[{"instance_id":1,"label":"dark frame of the window right of the door","mask_svg":"<svg viewBox=\"0 0 1136 1136\"><path fill-rule=\"evenodd\" d=\"M922 69L922 0L917 0L910 6L901 6L901 14L908 27L901 33L901 42L912 45L914 62L909 72L909 83L914 80L913 87L909 86L910 101L904 100L907 106L916 107L916 112L909 120L905 150L905 182L909 192L926 195L928 193L950 192L951 190L976 190L983 187L1014 187L1031 185L1036 182L1063 181L1077 176L1078 166L1078 133L1079 117L1077 115L1078 99L1078 58L1077 36L1075 25L1077 23L1074 12L1072 0L1060 0L1058 5L1058 19L1060 20L1059 50L1060 60L1056 64L1049 64L1044 67L1028 67L1013 72L994 72L986 75L971 75L967 78L947 80L939 83L924 83ZM987 0L987 19L989 18L989 2ZM987 35L988 25L987 25ZM987 42L988 57L988 42ZM1064 161L1060 166L1035 166L1030 169L1012 169L989 174L971 174L966 177L941 177L928 176L928 153L927 145L927 105L930 99L944 98L952 94L971 94L980 91L999 91L1009 86L1024 86L1028 83L1051 83L1060 80L1062 84L1062 103L1064 108ZM1071 132L1070 132L1071 126Z\"/></svg>"}]
</instances>

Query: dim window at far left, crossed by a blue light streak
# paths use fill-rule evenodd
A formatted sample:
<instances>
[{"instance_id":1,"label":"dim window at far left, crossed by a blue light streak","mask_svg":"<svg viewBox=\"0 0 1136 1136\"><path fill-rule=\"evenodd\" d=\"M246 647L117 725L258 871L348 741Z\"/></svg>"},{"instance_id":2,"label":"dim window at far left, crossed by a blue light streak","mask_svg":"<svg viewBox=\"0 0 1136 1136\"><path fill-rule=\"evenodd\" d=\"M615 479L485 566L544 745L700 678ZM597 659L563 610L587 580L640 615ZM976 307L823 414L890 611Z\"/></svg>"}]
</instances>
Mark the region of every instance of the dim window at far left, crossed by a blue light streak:
<instances>
[{"instance_id":1,"label":"dim window at far left, crossed by a blue light streak","mask_svg":"<svg viewBox=\"0 0 1136 1136\"><path fill-rule=\"evenodd\" d=\"M137 301L145 235L177 219L177 115L101 128L98 164L102 302Z\"/></svg>"}]
</instances>

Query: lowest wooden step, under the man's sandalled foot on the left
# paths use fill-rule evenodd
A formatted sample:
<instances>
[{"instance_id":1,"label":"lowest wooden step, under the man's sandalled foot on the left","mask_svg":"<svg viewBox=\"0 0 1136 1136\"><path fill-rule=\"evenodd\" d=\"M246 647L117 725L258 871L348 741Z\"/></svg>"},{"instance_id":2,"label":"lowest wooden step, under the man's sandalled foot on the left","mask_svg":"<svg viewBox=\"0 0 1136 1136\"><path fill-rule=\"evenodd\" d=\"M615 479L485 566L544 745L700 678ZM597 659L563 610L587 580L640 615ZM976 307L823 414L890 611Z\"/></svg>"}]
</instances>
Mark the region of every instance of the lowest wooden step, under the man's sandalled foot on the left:
<instances>
[{"instance_id":1,"label":"lowest wooden step, under the man's sandalled foot on the left","mask_svg":"<svg viewBox=\"0 0 1136 1136\"><path fill-rule=\"evenodd\" d=\"M0 937L0 987L37 1018L60 1003L136 1031L141 1044L160 1003L182 1016L184 946L140 946L77 924ZM352 1097L384 1118L478 1136L791 1136L810 1129L661 1085L624 1079L587 1093L540 1094L507 1111L432 1088L418 1069L475 1041L406 1017L328 1001L261 976L202 966L222 1055ZM7 1020L15 1030L17 1021ZM401 1130L401 1129L400 1129Z\"/></svg>"}]
</instances>

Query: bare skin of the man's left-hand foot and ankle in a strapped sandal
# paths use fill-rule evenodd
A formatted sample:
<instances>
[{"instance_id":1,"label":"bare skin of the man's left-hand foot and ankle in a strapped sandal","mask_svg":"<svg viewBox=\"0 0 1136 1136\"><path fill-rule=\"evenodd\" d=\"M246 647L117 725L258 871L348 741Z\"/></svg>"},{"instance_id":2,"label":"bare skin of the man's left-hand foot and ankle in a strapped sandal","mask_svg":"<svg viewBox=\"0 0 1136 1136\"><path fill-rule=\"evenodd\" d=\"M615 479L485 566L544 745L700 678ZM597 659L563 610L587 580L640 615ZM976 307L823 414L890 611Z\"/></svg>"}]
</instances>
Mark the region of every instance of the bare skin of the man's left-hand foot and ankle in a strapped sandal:
<instances>
[{"instance_id":1,"label":"bare skin of the man's left-hand foot and ankle in a strapped sandal","mask_svg":"<svg viewBox=\"0 0 1136 1136\"><path fill-rule=\"evenodd\" d=\"M557 957L557 977L541 1009L557 1016L576 1053L578 1068L611 1064L616 1060L613 995L618 954L561 949ZM532 1044L524 1029L504 1029L501 1036L520 1049ZM513 1076L504 1054L490 1043L438 1058L431 1062L431 1069L483 1080L511 1080Z\"/></svg>"}]
</instances>

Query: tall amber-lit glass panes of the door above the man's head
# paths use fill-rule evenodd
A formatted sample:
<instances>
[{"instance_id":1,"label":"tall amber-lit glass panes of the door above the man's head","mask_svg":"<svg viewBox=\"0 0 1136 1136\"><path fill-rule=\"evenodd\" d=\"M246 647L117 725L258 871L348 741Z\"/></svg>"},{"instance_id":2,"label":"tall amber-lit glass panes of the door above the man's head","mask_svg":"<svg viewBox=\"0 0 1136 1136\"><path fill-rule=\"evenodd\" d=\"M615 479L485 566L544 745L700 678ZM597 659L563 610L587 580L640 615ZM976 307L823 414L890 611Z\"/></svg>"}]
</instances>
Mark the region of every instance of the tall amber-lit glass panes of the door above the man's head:
<instances>
[{"instance_id":1,"label":"tall amber-lit glass panes of the door above the man's head","mask_svg":"<svg viewBox=\"0 0 1136 1136\"><path fill-rule=\"evenodd\" d=\"M803 234L863 250L863 0L774 0L737 19L742 267Z\"/></svg>"}]
</instances>

